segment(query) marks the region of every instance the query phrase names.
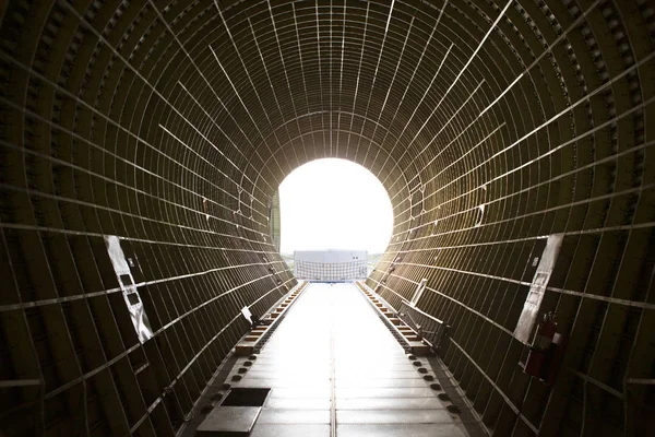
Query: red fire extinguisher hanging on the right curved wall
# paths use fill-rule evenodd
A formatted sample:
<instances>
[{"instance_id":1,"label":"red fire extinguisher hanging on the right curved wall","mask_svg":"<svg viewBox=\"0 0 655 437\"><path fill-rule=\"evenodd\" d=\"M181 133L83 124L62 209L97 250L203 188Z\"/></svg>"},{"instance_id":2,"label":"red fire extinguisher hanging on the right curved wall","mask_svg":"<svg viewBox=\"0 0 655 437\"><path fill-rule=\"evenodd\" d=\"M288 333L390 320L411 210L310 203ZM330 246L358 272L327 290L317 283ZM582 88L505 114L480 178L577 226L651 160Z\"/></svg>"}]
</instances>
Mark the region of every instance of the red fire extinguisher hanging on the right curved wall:
<instances>
[{"instance_id":1,"label":"red fire extinguisher hanging on the right curved wall","mask_svg":"<svg viewBox=\"0 0 655 437\"><path fill-rule=\"evenodd\" d=\"M544 315L544 321L537 327L523 370L548 385L555 383L563 357L564 341L564 335L557 332L555 314Z\"/></svg>"}]
</instances>

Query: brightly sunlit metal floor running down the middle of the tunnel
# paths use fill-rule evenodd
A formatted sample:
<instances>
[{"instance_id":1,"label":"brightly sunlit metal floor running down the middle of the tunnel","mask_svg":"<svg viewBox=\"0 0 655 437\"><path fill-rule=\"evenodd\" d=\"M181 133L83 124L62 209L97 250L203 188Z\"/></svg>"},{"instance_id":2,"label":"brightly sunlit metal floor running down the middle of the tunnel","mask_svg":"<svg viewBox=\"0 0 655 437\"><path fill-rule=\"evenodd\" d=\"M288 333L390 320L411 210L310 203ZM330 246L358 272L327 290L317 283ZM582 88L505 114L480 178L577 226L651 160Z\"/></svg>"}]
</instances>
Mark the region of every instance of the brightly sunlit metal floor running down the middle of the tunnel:
<instances>
[{"instance_id":1,"label":"brightly sunlit metal floor running down the middle of the tunnel","mask_svg":"<svg viewBox=\"0 0 655 437\"><path fill-rule=\"evenodd\" d=\"M311 284L252 363L253 436L467 435L352 284Z\"/></svg>"}]
</instances>

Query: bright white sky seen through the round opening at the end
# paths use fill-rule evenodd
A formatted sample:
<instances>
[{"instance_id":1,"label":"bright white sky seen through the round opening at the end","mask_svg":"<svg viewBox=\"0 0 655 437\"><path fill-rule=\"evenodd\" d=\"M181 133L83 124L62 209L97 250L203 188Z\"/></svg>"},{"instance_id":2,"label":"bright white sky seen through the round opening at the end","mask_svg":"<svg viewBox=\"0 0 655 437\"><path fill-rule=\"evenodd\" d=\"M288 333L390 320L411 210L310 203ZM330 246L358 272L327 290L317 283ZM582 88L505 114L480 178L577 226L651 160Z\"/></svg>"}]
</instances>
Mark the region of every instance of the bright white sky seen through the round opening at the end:
<instances>
[{"instance_id":1,"label":"bright white sky seen through the round opening at the end","mask_svg":"<svg viewBox=\"0 0 655 437\"><path fill-rule=\"evenodd\" d=\"M356 249L382 253L393 228L386 190L346 160L317 160L279 185L281 252Z\"/></svg>"}]
</instances>

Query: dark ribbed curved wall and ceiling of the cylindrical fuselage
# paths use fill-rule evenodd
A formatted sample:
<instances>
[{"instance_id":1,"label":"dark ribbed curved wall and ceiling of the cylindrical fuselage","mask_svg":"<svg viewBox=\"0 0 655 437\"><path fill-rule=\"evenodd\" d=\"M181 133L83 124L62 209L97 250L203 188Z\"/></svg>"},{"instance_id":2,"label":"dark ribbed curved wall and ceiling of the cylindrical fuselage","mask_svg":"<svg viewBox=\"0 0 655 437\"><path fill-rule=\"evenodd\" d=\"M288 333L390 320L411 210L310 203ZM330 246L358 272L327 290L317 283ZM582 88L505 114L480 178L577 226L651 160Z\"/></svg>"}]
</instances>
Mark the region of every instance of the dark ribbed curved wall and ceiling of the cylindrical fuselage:
<instances>
[{"instance_id":1,"label":"dark ribbed curved wall and ceiling of the cylindrical fuselage","mask_svg":"<svg viewBox=\"0 0 655 437\"><path fill-rule=\"evenodd\" d=\"M368 284L398 305L427 279L417 305L452 326L443 361L490 433L643 435L652 1L10 0L0 20L8 435L175 435L239 309L295 285L273 199L322 157L388 189ZM514 335L551 235L553 388Z\"/></svg>"}]
</instances>

